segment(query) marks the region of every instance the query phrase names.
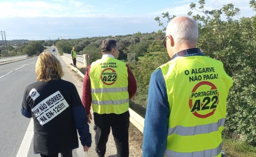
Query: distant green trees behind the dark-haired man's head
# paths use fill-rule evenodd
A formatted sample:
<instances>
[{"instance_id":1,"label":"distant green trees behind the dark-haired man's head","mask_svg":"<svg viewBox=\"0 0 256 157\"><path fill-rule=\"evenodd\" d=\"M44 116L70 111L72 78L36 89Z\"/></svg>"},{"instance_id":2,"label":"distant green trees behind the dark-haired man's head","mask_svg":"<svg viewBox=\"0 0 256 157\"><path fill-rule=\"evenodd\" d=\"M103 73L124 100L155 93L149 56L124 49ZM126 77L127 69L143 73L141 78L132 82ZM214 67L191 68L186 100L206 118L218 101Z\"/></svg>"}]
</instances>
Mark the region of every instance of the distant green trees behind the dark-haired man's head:
<instances>
[{"instance_id":1,"label":"distant green trees behind the dark-haired man's head","mask_svg":"<svg viewBox=\"0 0 256 157\"><path fill-rule=\"evenodd\" d=\"M138 62L138 56L144 56L149 53L149 45L155 40L154 34L156 33L135 33L127 34L126 36L107 36L107 37L87 37L82 39L67 39L67 40L55 40L54 44L57 47L60 54L70 53L72 47L76 47L76 51L79 55L88 54L90 55L90 63L93 60L101 58L101 43L102 40L110 38L118 41L119 46L119 58L120 60L134 63L134 52L135 60ZM158 37L159 38L159 37ZM164 36L161 34L160 39ZM133 41L134 39L134 41ZM130 53L130 55L128 55ZM129 57L133 56L133 57Z\"/></svg>"}]
</instances>

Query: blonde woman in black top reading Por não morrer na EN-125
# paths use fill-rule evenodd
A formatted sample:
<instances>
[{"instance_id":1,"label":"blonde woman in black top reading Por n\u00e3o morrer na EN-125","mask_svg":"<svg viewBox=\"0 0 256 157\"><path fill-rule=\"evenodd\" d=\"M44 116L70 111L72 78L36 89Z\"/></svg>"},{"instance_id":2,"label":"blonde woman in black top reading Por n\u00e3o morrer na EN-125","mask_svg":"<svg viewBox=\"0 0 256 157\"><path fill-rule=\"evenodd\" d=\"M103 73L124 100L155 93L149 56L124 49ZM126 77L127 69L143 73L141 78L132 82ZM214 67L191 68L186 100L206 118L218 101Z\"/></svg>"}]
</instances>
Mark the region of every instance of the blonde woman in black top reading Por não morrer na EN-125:
<instances>
[{"instance_id":1,"label":"blonde woman in black top reading Por n\u00e3o morrer na EN-125","mask_svg":"<svg viewBox=\"0 0 256 157\"><path fill-rule=\"evenodd\" d=\"M36 62L37 82L26 87L21 113L34 121L34 152L40 156L71 157L79 147L88 151L92 137L88 117L76 86L64 81L60 61L51 53L41 53Z\"/></svg>"}]
</instances>

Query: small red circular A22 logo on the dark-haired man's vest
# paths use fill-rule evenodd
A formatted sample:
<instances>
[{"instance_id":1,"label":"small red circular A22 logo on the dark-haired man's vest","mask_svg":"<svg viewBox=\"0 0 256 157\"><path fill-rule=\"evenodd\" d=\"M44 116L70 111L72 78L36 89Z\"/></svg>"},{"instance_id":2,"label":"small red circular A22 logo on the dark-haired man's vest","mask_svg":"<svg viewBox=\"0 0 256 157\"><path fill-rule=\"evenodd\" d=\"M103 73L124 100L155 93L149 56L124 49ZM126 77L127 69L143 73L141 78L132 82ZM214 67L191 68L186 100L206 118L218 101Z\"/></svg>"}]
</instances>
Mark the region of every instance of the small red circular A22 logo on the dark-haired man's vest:
<instances>
[{"instance_id":1,"label":"small red circular A22 logo on the dark-haired man's vest","mask_svg":"<svg viewBox=\"0 0 256 157\"><path fill-rule=\"evenodd\" d=\"M113 85L117 81L117 72L112 68L106 68L101 72L101 81L105 85Z\"/></svg>"}]
</instances>

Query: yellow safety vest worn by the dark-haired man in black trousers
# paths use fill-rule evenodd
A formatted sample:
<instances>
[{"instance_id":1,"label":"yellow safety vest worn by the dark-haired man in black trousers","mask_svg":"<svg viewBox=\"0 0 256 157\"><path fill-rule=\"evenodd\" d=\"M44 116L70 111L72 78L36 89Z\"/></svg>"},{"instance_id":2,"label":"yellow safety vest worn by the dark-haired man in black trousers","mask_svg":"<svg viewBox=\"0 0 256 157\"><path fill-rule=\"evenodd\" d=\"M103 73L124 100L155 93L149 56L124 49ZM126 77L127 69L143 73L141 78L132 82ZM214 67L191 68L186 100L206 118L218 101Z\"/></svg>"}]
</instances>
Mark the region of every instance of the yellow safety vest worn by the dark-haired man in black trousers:
<instances>
[{"instance_id":1,"label":"yellow safety vest worn by the dark-haired man in black trousers","mask_svg":"<svg viewBox=\"0 0 256 157\"><path fill-rule=\"evenodd\" d=\"M93 112L121 114L129 110L126 63L112 57L96 60L89 76Z\"/></svg>"}]
</instances>

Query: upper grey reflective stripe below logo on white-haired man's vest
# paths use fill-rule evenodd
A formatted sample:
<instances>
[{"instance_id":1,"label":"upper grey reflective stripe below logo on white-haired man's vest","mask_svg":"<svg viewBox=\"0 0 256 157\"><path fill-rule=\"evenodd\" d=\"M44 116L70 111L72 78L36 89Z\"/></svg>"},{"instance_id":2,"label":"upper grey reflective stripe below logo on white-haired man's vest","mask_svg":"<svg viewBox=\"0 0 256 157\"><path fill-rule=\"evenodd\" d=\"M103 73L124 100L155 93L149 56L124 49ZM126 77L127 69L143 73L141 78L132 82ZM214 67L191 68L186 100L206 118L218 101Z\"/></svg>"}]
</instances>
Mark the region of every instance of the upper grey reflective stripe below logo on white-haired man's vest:
<instances>
[{"instance_id":1,"label":"upper grey reflective stripe below logo on white-haired man's vest","mask_svg":"<svg viewBox=\"0 0 256 157\"><path fill-rule=\"evenodd\" d=\"M224 123L225 118L221 118L217 123L210 123L193 127L176 126L168 129L168 135L175 133L181 136L191 136L195 134L216 132L220 126L224 126Z\"/></svg>"}]
</instances>

